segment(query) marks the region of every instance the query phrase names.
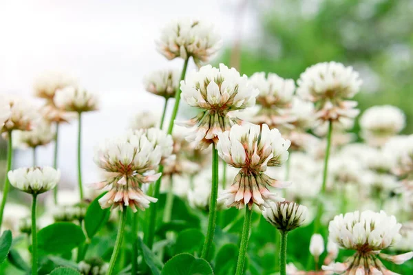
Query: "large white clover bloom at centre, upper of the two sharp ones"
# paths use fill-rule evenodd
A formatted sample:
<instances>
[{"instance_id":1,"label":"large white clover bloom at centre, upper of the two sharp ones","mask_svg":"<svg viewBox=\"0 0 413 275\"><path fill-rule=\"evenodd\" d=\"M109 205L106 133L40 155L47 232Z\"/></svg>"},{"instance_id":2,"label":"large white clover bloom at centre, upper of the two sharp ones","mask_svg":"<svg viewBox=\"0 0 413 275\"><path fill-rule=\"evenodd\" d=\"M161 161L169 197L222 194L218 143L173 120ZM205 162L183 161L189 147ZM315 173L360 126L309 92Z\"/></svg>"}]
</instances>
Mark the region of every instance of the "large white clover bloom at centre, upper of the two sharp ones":
<instances>
[{"instance_id":1,"label":"large white clover bloom at centre, upper of the two sharp ones","mask_svg":"<svg viewBox=\"0 0 413 275\"><path fill-rule=\"evenodd\" d=\"M195 141L200 148L216 143L219 133L240 124L242 121L230 112L252 107L258 92L248 84L245 75L240 76L236 69L223 64L219 69L207 65L199 72L188 74L187 79L181 81L180 88L187 104L200 109L195 118L182 123L182 126L193 129L187 140Z\"/></svg>"}]
</instances>

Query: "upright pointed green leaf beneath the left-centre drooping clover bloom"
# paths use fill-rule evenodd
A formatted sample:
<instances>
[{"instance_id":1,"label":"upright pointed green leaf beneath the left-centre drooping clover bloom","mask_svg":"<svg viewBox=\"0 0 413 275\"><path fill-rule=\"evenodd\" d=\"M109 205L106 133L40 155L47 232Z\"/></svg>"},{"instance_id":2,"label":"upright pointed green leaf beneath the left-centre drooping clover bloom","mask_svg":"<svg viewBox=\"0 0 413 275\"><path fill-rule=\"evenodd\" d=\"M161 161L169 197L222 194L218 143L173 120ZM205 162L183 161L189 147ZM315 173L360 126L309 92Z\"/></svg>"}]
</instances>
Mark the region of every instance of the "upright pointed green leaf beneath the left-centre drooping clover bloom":
<instances>
[{"instance_id":1,"label":"upright pointed green leaf beneath the left-centre drooping clover bloom","mask_svg":"<svg viewBox=\"0 0 413 275\"><path fill-rule=\"evenodd\" d=\"M85 229L89 239L92 239L99 229L109 220L109 208L102 209L98 202L105 194L106 192L94 199L86 210Z\"/></svg>"}]
</instances>

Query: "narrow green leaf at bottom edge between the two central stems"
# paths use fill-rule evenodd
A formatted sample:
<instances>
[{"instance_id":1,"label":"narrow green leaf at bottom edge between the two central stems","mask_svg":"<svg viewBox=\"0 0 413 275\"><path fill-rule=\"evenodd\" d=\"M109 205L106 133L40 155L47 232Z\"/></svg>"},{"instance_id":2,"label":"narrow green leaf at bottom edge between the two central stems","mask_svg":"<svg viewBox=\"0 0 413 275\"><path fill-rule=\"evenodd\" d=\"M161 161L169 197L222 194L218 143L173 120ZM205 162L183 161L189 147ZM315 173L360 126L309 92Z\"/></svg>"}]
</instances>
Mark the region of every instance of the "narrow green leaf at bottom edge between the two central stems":
<instances>
[{"instance_id":1,"label":"narrow green leaf at bottom edge between the two central stems","mask_svg":"<svg viewBox=\"0 0 413 275\"><path fill-rule=\"evenodd\" d=\"M239 249L234 243L222 246L215 257L215 274L235 274Z\"/></svg>"}]
</instances>

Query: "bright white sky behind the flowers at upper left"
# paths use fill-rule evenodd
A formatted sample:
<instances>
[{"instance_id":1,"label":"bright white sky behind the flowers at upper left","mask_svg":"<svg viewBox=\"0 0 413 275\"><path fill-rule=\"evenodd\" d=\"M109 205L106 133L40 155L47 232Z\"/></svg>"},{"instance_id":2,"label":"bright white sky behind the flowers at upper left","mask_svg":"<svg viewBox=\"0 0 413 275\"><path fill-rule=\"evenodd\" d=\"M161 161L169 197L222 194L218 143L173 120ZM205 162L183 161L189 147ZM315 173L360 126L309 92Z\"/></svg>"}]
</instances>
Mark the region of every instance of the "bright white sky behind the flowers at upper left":
<instances>
[{"instance_id":1,"label":"bright white sky behind the flowers at upper left","mask_svg":"<svg viewBox=\"0 0 413 275\"><path fill-rule=\"evenodd\" d=\"M0 94L32 96L36 76L65 72L99 95L100 111L83 120L83 181L98 179L94 146L127 128L139 110L161 111L162 99L143 89L148 72L181 67L167 61L154 41L172 19L213 21L224 45L231 44L238 1L1 0ZM244 38L255 32L247 12ZM189 69L193 69L191 66ZM60 132L59 163L63 184L76 184L76 122ZM39 150L39 165L52 164L52 145ZM17 153L14 167L30 166L29 151Z\"/></svg>"}]
</instances>

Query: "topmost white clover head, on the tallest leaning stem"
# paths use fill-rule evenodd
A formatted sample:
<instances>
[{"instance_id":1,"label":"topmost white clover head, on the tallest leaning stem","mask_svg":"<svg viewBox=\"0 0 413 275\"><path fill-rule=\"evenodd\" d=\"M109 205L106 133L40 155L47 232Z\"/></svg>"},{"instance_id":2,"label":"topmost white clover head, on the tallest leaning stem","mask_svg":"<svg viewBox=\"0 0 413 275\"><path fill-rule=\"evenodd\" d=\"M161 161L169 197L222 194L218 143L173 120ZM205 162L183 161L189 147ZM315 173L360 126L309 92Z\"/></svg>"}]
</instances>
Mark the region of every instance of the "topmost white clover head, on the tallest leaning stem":
<instances>
[{"instance_id":1,"label":"topmost white clover head, on the tallest leaning stem","mask_svg":"<svg viewBox=\"0 0 413 275\"><path fill-rule=\"evenodd\" d=\"M200 65L208 62L220 50L222 41L212 24L181 19L172 21L162 30L156 45L158 52L169 60L192 57L195 64Z\"/></svg>"}]
</instances>

